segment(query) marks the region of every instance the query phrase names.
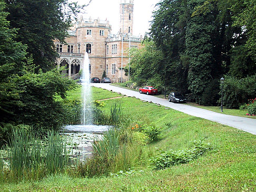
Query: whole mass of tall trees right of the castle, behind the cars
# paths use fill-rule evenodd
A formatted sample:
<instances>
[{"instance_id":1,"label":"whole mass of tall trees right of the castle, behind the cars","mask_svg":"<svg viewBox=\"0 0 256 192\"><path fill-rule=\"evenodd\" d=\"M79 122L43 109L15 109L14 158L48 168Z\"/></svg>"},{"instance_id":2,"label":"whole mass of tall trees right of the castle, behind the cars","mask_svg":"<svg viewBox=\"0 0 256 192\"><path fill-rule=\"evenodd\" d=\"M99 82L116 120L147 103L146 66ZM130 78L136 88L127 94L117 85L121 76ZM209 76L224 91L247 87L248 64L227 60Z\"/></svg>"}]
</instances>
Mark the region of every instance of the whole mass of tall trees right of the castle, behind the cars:
<instances>
[{"instance_id":1,"label":"whole mass of tall trees right of the castle, behind the cars","mask_svg":"<svg viewBox=\"0 0 256 192\"><path fill-rule=\"evenodd\" d=\"M256 73L255 6L251 0L161 0L150 39L131 53L131 79L217 105L221 77Z\"/></svg>"}]
</instances>

